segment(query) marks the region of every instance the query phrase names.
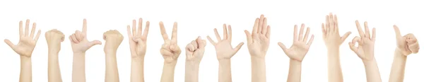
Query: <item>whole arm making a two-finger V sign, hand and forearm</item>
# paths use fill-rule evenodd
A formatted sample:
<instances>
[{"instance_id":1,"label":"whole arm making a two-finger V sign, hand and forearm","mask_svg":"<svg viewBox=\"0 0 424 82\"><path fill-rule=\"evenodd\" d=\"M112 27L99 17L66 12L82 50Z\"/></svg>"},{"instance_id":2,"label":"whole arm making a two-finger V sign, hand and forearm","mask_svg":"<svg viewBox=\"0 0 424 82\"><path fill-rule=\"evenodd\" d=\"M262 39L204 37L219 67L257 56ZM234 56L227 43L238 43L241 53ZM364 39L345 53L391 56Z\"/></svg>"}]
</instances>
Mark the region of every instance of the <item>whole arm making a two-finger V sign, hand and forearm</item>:
<instances>
[{"instance_id":1,"label":"whole arm making a two-finger V sign, hand and forearm","mask_svg":"<svg viewBox=\"0 0 424 82\"><path fill-rule=\"evenodd\" d=\"M160 81L174 82L175 65L177 65L177 59L179 54L181 54L181 49L179 49L179 46L177 45L177 22L174 23L174 28L172 28L171 39L167 36L165 26L162 21L159 25L160 33L162 33L164 40L162 48L160 48L160 54L162 54L163 59L165 59Z\"/></svg>"}]
</instances>

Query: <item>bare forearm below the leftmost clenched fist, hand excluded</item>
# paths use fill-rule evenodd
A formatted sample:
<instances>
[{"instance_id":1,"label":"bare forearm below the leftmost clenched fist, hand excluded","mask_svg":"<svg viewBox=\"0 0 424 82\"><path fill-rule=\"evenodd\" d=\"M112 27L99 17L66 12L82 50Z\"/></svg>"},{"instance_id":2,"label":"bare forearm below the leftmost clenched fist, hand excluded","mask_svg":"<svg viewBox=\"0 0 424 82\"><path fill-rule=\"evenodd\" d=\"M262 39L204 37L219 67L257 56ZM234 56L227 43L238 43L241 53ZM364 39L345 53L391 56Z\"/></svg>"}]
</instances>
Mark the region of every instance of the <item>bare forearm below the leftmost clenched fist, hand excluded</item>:
<instances>
[{"instance_id":1,"label":"bare forearm below the leftmost clenched fist, hand excluded","mask_svg":"<svg viewBox=\"0 0 424 82\"><path fill-rule=\"evenodd\" d=\"M59 68L59 58L56 50L49 50L48 61L49 82L61 82L61 74Z\"/></svg>"}]
</instances>

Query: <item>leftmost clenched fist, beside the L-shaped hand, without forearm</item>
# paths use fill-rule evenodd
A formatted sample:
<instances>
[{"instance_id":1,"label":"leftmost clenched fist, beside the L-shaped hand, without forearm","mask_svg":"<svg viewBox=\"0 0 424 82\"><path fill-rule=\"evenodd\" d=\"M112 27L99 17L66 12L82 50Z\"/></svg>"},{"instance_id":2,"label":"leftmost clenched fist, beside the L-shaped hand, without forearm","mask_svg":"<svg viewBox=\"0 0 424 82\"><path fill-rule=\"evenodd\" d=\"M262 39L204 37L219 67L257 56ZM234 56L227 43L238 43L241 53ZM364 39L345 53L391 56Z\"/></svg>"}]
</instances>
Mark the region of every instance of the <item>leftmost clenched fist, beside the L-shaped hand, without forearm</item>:
<instances>
[{"instance_id":1,"label":"leftmost clenched fist, beside the L-shaped hand, without forearm","mask_svg":"<svg viewBox=\"0 0 424 82\"><path fill-rule=\"evenodd\" d=\"M49 30L45 33L47 45L49 49L55 49L59 52L60 50L60 42L64 42L64 33L61 33L59 30Z\"/></svg>"}]
</instances>

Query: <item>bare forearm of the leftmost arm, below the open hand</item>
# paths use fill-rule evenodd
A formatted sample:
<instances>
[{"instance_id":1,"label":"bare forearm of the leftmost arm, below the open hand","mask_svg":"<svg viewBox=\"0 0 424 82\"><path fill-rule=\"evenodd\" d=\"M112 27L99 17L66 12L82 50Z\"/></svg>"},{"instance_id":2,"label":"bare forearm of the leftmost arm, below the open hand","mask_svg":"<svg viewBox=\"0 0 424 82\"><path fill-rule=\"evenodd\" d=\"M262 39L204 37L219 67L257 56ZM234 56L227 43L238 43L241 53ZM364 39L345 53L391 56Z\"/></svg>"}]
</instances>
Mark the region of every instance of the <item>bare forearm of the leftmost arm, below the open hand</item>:
<instances>
[{"instance_id":1,"label":"bare forearm of the leftmost arm, below the open hand","mask_svg":"<svg viewBox=\"0 0 424 82\"><path fill-rule=\"evenodd\" d=\"M33 81L33 69L30 57L20 56L20 82L32 82Z\"/></svg>"}]
</instances>

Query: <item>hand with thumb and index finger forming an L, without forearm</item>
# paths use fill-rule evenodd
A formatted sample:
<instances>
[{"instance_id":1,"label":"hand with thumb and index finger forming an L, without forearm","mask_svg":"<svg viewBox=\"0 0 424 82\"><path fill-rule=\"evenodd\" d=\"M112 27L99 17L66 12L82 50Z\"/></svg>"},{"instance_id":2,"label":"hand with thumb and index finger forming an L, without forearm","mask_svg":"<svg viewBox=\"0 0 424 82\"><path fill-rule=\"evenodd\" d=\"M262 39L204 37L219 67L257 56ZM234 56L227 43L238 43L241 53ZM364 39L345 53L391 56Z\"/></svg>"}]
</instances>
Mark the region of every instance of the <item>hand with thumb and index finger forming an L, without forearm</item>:
<instances>
[{"instance_id":1,"label":"hand with thumb and index finger forming an L, without forearm","mask_svg":"<svg viewBox=\"0 0 424 82\"><path fill-rule=\"evenodd\" d=\"M76 30L75 33L69 35L69 40L71 41L72 51L74 53L85 53L90 47L94 45L102 45L102 42L99 40L94 40L89 42L87 40L87 20L83 21L83 32Z\"/></svg>"}]
</instances>

